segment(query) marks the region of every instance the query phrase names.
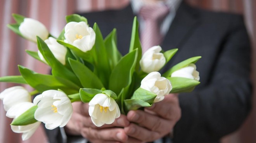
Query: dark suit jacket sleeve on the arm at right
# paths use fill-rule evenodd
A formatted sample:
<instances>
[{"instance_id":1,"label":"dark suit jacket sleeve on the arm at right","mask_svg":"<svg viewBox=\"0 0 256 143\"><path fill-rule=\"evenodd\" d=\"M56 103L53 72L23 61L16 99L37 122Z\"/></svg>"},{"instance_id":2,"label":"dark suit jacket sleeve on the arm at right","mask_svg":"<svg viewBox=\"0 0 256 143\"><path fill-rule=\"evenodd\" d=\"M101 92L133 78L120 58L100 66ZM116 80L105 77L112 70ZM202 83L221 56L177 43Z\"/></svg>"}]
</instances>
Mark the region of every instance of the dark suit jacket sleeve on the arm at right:
<instances>
[{"instance_id":1,"label":"dark suit jacket sleeve on the arm at right","mask_svg":"<svg viewBox=\"0 0 256 143\"><path fill-rule=\"evenodd\" d=\"M179 95L182 117L174 128L175 143L218 142L239 128L250 111L250 42L242 17L230 19L220 46L209 84Z\"/></svg>"}]
</instances>

